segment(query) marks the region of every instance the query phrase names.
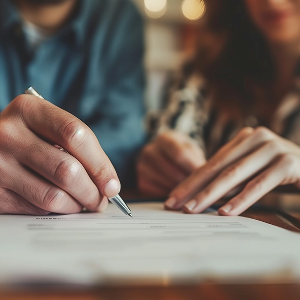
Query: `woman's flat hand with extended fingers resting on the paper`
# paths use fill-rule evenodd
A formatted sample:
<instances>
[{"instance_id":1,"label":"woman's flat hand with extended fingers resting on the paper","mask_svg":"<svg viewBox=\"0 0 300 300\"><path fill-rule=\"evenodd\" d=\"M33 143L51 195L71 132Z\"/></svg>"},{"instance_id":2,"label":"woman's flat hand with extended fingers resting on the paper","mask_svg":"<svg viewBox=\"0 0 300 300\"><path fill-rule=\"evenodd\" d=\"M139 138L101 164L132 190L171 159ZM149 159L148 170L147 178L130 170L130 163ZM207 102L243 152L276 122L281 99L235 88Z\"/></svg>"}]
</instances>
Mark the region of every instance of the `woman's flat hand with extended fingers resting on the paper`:
<instances>
[{"instance_id":1,"label":"woman's flat hand with extended fingers resting on the paper","mask_svg":"<svg viewBox=\"0 0 300 300\"><path fill-rule=\"evenodd\" d=\"M165 207L200 213L235 187L245 185L218 211L239 215L275 187L286 184L300 188L300 147L267 128L246 127L175 188Z\"/></svg>"}]
</instances>

